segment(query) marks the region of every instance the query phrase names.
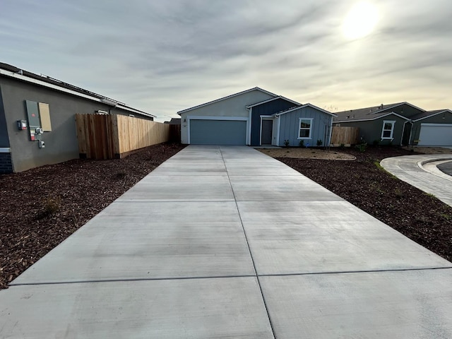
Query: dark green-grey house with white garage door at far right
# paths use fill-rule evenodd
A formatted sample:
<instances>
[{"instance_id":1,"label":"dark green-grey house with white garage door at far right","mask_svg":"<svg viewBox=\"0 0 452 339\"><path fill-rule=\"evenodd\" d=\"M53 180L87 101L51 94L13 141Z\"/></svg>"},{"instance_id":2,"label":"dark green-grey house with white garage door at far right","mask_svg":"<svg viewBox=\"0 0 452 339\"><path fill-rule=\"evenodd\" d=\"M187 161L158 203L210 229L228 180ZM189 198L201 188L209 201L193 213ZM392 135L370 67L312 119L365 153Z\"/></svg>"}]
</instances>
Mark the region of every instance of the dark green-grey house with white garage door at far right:
<instances>
[{"instance_id":1,"label":"dark green-grey house with white garage door at far right","mask_svg":"<svg viewBox=\"0 0 452 339\"><path fill-rule=\"evenodd\" d=\"M367 143L391 145L452 145L452 111L426 111L408 102L351 109L336 113L334 126L359 128Z\"/></svg>"}]
</instances>

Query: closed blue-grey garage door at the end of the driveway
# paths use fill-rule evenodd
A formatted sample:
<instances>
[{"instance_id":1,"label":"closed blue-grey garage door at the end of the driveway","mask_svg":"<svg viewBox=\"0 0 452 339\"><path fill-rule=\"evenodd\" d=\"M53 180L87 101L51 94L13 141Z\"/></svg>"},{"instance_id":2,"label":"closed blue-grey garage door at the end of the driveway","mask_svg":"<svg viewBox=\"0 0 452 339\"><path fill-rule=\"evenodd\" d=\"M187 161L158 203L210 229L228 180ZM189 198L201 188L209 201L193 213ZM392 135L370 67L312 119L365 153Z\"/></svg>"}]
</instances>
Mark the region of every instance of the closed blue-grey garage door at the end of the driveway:
<instances>
[{"instance_id":1,"label":"closed blue-grey garage door at the end of the driveway","mask_svg":"<svg viewBox=\"0 0 452 339\"><path fill-rule=\"evenodd\" d=\"M246 145L245 120L190 120L194 145Z\"/></svg>"}]
</instances>

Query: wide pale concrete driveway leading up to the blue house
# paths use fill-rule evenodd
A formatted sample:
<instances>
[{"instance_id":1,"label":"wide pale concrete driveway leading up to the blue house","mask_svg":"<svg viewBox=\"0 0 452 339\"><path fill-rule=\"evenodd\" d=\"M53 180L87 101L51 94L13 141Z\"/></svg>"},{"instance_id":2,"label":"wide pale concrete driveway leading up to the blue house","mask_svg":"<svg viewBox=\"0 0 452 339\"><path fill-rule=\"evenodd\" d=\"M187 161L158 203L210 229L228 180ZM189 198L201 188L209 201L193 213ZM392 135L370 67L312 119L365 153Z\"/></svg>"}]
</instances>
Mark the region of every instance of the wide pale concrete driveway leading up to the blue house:
<instances>
[{"instance_id":1,"label":"wide pale concrete driveway leading up to the blue house","mask_svg":"<svg viewBox=\"0 0 452 339\"><path fill-rule=\"evenodd\" d=\"M451 281L281 162L191 145L0 291L0 338L452 338Z\"/></svg>"}]
</instances>

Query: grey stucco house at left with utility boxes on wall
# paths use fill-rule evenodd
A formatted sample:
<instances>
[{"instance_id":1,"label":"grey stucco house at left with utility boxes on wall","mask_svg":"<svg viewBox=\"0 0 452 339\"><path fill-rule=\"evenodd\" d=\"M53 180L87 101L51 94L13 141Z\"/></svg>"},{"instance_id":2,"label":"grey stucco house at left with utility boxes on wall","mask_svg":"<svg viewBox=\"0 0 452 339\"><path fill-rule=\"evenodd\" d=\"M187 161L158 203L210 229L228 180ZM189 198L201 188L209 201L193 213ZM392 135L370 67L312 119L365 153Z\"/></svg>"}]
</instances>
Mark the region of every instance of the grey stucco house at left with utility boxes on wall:
<instances>
[{"instance_id":1,"label":"grey stucco house at left with utility boxes on wall","mask_svg":"<svg viewBox=\"0 0 452 339\"><path fill-rule=\"evenodd\" d=\"M0 173L78 158L78 113L155 117L57 79L0 63Z\"/></svg>"}]
</instances>

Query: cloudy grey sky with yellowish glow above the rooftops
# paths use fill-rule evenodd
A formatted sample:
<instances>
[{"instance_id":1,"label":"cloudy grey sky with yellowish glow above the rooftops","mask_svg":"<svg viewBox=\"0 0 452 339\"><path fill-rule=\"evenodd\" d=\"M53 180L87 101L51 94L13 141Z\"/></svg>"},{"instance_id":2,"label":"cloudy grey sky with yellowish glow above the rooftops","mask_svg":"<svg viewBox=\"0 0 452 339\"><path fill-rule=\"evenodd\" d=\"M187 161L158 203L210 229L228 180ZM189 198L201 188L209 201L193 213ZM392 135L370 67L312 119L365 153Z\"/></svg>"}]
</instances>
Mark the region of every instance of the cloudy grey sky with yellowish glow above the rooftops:
<instances>
[{"instance_id":1,"label":"cloudy grey sky with yellowish glow above the rooftops","mask_svg":"<svg viewBox=\"0 0 452 339\"><path fill-rule=\"evenodd\" d=\"M0 61L157 121L256 86L452 109L452 1L0 0Z\"/></svg>"}]
</instances>

